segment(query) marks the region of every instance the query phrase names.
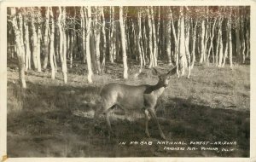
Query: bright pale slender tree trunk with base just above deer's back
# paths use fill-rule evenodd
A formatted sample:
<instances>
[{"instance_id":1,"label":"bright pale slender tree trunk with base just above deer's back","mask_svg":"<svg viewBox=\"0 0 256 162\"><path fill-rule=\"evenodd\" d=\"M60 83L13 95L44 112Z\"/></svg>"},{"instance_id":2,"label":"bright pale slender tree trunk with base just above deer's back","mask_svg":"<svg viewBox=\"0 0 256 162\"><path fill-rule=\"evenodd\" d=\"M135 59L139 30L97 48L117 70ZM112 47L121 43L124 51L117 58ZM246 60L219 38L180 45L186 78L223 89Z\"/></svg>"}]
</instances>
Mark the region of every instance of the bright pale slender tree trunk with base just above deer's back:
<instances>
[{"instance_id":1,"label":"bright pale slender tree trunk with base just above deer's back","mask_svg":"<svg viewBox=\"0 0 256 162\"><path fill-rule=\"evenodd\" d=\"M121 44L122 44L122 54L123 54L123 65L124 65L124 78L128 78L128 67L127 67L127 56L125 47L125 26L123 20L123 7L119 7L119 23L121 32Z\"/></svg>"}]
</instances>

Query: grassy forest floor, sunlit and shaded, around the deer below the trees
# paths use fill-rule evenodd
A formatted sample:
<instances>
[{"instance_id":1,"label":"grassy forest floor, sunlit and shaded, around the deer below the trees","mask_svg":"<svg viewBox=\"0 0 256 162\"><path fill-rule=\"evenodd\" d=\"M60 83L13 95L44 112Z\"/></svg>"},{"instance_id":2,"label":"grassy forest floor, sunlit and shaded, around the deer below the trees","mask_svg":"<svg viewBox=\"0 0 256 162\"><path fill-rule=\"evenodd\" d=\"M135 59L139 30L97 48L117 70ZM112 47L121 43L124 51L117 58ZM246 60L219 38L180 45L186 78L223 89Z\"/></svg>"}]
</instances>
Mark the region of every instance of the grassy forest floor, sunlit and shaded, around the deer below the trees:
<instances>
[{"instance_id":1,"label":"grassy forest floor, sunlit and shaded, around the deer below the trees","mask_svg":"<svg viewBox=\"0 0 256 162\"><path fill-rule=\"evenodd\" d=\"M162 72L168 68L160 66ZM131 73L134 69L137 66L131 67ZM157 117L166 141L186 143L172 145L157 144L163 140L153 120L149 121L151 137L148 138L144 133L142 116L118 114L118 107L111 118L114 137L108 138L108 127L103 117L97 127L93 124L92 117L102 85L110 82L156 84L157 78L149 69L144 69L137 79L131 74L131 78L124 80L120 79L122 65L109 65L107 73L94 76L93 84L87 83L84 64L77 62L68 71L67 84L63 84L61 70L56 73L55 80L50 78L50 71L30 71L26 74L27 89L22 90L15 61L8 61L9 157L249 156L249 66L235 66L231 70L229 67L197 65L189 79L172 77L157 106ZM197 149L188 150L193 147ZM178 148L184 150L172 150Z\"/></svg>"}]
</instances>

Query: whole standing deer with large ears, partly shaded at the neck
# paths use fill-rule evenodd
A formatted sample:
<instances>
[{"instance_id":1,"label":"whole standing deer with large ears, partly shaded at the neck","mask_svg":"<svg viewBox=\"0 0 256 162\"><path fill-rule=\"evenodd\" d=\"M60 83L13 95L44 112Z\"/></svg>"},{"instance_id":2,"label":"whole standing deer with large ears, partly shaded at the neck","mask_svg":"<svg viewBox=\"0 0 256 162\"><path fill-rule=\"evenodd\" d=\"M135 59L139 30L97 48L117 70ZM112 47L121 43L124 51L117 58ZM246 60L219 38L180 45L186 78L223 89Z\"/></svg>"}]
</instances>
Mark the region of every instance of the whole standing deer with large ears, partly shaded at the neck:
<instances>
[{"instance_id":1,"label":"whole standing deer with large ears, partly shaded at the neck","mask_svg":"<svg viewBox=\"0 0 256 162\"><path fill-rule=\"evenodd\" d=\"M150 137L148 131L148 121L150 116L154 119L157 124L158 130L160 131L160 137L166 139L163 131L160 128L159 121L155 114L155 106L160 95L166 90L169 84L171 76L177 73L177 67L172 68L167 73L160 73L154 67L152 73L158 76L158 83L155 85L141 84L141 85L128 85L110 83L102 87L100 92L101 105L96 109L94 115L94 122L99 118L100 114L105 114L108 124L108 135L113 134L111 128L109 114L114 106L119 106L121 109L126 111L139 110L143 111L145 115L145 133ZM150 116L149 116L150 115Z\"/></svg>"}]
</instances>

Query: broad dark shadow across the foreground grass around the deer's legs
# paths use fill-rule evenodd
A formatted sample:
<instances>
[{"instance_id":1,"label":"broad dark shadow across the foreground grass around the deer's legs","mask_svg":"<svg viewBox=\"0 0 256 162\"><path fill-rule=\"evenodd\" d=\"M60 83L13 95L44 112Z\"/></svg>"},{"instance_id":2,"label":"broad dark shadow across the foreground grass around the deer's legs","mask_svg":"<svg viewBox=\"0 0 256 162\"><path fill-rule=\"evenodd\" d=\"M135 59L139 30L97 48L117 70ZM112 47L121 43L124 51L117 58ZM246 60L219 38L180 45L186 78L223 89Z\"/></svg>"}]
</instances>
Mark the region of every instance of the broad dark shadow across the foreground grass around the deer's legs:
<instances>
[{"instance_id":1,"label":"broad dark shadow across the foreground grass around the deer's legs","mask_svg":"<svg viewBox=\"0 0 256 162\"><path fill-rule=\"evenodd\" d=\"M27 83L27 90L8 82L9 157L180 157L249 156L249 112L198 105L171 98L157 111L170 142L237 142L232 152L166 150L166 145L130 145L128 142L158 142L159 131L149 122L151 138L144 134L143 119L112 120L115 137L108 138L104 119L94 127L88 113L95 107L100 87L47 86ZM120 142L127 142L120 145ZM168 145L166 147L182 147ZM187 147L187 146L186 146ZM191 146L193 147L193 146ZM218 146L219 149L226 146ZM226 147L227 148L227 147Z\"/></svg>"}]
</instances>

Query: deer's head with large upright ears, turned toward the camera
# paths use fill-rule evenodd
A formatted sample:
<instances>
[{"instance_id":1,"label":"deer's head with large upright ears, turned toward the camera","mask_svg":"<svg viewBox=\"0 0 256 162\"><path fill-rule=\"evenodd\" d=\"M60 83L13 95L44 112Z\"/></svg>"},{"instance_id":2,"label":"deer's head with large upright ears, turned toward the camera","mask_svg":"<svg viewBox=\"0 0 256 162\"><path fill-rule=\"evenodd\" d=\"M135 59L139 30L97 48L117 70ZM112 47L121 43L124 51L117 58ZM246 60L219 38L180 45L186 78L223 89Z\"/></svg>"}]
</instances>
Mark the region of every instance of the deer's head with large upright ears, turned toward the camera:
<instances>
[{"instance_id":1,"label":"deer's head with large upright ears, turned toward the camera","mask_svg":"<svg viewBox=\"0 0 256 162\"><path fill-rule=\"evenodd\" d=\"M174 67L174 68L172 68L171 71L163 74L163 73L158 72L155 68L152 68L152 73L154 75L157 75L159 78L158 85L160 85L162 87L168 86L171 76L174 75L176 73L176 71L177 71L177 67Z\"/></svg>"}]
</instances>

